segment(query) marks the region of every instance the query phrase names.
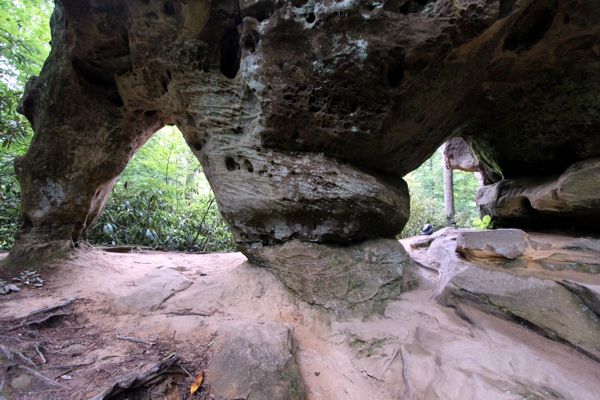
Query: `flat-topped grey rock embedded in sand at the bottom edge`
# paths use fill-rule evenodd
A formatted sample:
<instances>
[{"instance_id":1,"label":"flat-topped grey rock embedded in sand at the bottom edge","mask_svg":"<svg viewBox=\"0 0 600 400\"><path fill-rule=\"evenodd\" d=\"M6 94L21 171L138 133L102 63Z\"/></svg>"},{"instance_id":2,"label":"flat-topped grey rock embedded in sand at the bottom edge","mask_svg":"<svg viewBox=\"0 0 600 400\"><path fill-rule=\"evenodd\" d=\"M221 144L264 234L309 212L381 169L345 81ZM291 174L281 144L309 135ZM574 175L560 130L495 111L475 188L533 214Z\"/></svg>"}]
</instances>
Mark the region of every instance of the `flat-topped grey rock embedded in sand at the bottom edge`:
<instances>
[{"instance_id":1,"label":"flat-topped grey rock embedded in sand at the bottom edge","mask_svg":"<svg viewBox=\"0 0 600 400\"><path fill-rule=\"evenodd\" d=\"M251 320L224 322L219 351L206 381L216 399L304 399L291 325Z\"/></svg>"}]
</instances>

